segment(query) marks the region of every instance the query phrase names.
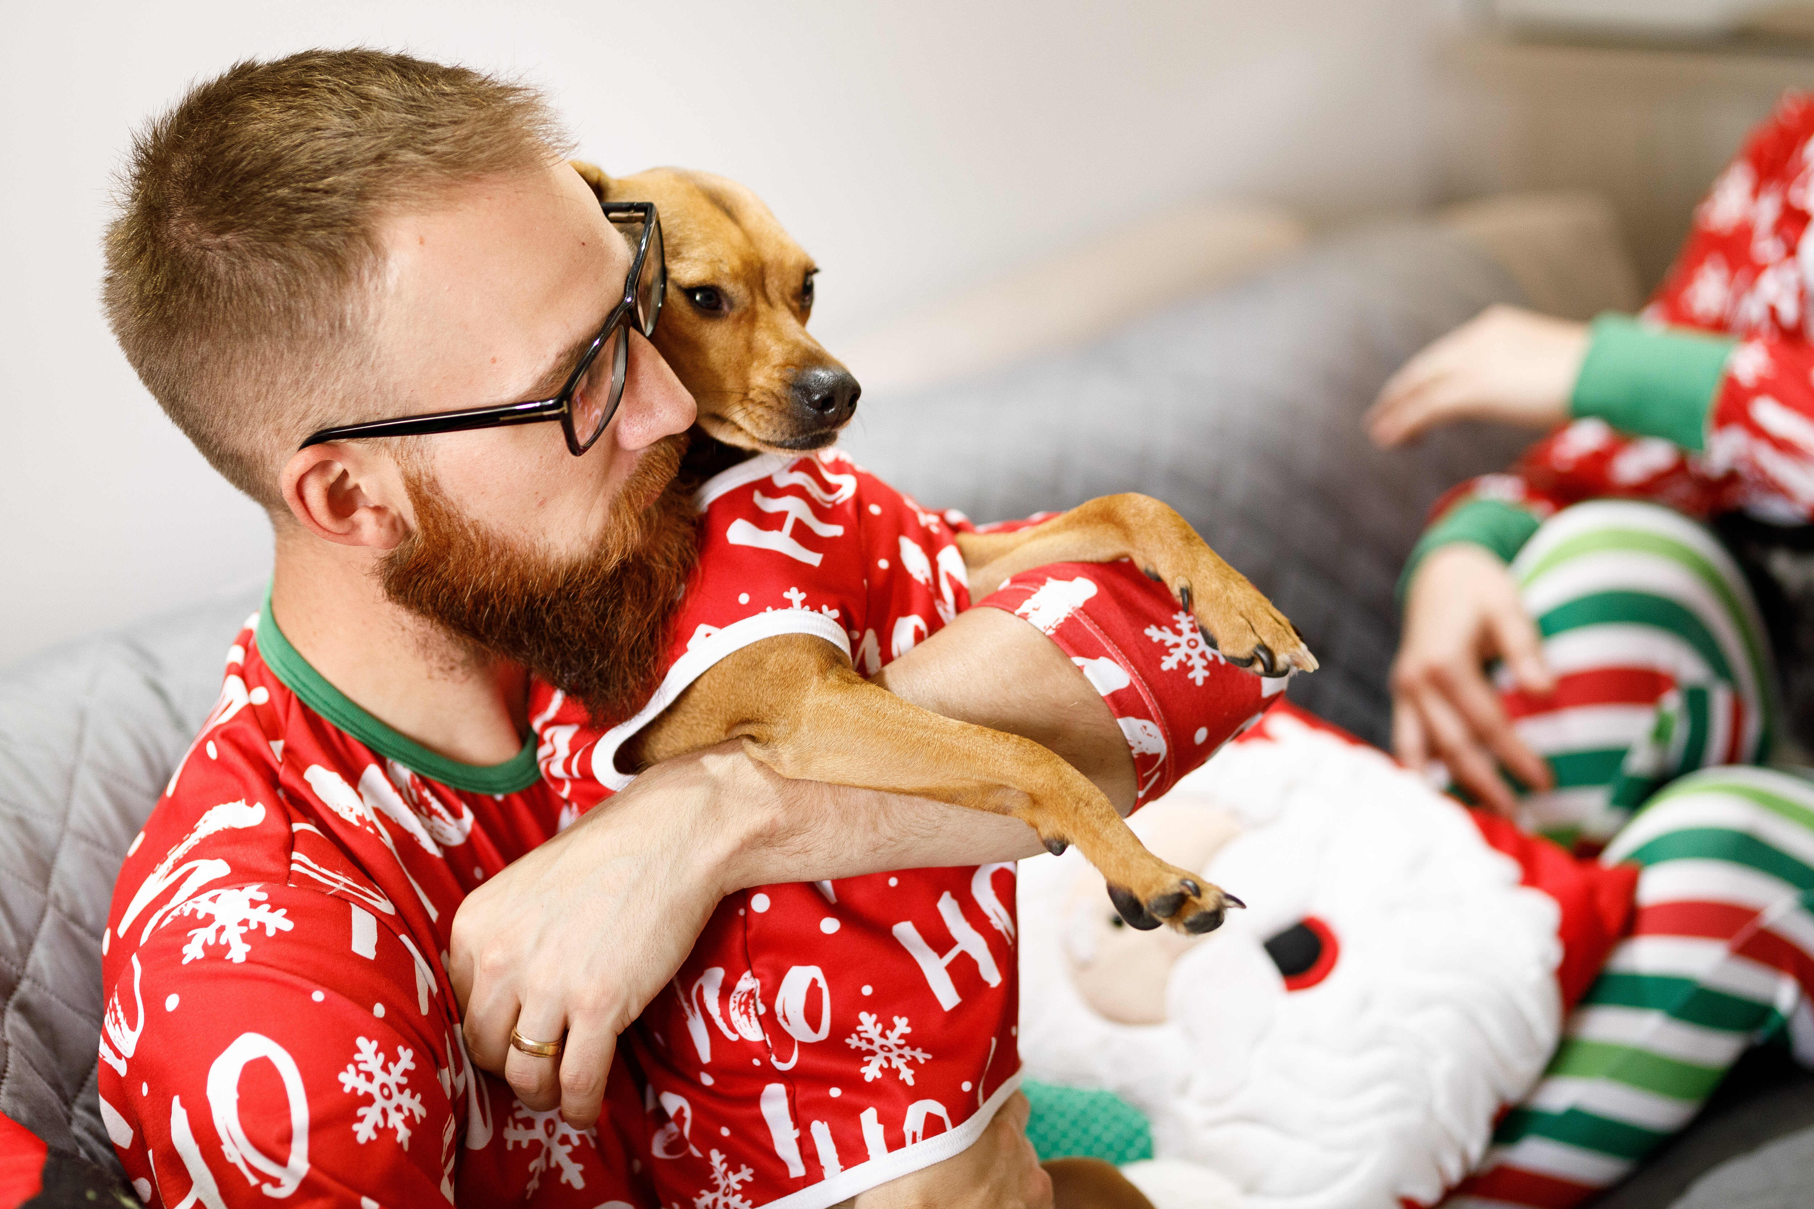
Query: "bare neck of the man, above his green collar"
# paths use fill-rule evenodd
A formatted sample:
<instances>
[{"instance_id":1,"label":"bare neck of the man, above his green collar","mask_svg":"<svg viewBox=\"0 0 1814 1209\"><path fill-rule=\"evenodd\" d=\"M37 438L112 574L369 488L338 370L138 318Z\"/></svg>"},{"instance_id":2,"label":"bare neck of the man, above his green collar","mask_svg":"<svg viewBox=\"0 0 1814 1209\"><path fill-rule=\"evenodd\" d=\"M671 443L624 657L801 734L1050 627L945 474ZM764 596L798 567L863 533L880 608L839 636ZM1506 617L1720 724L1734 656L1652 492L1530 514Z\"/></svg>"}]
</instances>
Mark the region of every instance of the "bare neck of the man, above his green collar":
<instances>
[{"instance_id":1,"label":"bare neck of the man, above his green collar","mask_svg":"<svg viewBox=\"0 0 1814 1209\"><path fill-rule=\"evenodd\" d=\"M522 750L528 676L481 662L392 604L368 549L278 533L270 611L330 685L392 730L450 759L495 765Z\"/></svg>"}]
</instances>

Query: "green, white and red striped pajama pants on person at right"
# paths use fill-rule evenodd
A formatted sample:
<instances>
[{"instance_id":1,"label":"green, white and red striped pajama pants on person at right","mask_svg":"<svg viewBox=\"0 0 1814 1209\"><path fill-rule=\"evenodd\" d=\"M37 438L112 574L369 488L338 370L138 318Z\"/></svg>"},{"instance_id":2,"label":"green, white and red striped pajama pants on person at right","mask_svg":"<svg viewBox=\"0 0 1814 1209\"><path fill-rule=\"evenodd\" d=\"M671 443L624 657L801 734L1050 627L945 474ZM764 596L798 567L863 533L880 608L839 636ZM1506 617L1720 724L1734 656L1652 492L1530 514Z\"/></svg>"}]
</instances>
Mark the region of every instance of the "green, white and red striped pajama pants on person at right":
<instances>
[{"instance_id":1,"label":"green, white and red striped pajama pants on person at right","mask_svg":"<svg viewBox=\"0 0 1814 1209\"><path fill-rule=\"evenodd\" d=\"M1578 1205L1685 1126L1767 1040L1814 1064L1814 781L1770 745L1769 640L1714 537L1651 504L1556 513L1513 562L1556 672L1502 682L1556 788L1526 823L1642 866L1631 935L1531 1095L1446 1204Z\"/></svg>"}]
</instances>

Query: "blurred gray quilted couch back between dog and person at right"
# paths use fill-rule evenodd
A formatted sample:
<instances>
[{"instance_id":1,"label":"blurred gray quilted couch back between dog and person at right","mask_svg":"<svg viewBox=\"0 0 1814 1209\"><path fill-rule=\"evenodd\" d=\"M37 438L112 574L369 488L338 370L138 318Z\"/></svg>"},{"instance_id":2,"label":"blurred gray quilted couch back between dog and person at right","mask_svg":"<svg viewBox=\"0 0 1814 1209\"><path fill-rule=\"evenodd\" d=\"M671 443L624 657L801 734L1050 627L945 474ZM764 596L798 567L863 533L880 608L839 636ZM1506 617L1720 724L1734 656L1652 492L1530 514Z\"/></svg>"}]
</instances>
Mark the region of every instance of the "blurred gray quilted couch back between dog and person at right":
<instances>
[{"instance_id":1,"label":"blurred gray quilted couch back between dog and person at right","mask_svg":"<svg viewBox=\"0 0 1814 1209\"><path fill-rule=\"evenodd\" d=\"M1304 633L1292 698L1388 738L1393 584L1429 504L1529 433L1457 426L1380 453L1359 419L1386 377L1511 277L1433 227L1317 247L1074 353L863 397L845 446L925 504L978 520L1145 491L1177 508Z\"/></svg>"}]
</instances>

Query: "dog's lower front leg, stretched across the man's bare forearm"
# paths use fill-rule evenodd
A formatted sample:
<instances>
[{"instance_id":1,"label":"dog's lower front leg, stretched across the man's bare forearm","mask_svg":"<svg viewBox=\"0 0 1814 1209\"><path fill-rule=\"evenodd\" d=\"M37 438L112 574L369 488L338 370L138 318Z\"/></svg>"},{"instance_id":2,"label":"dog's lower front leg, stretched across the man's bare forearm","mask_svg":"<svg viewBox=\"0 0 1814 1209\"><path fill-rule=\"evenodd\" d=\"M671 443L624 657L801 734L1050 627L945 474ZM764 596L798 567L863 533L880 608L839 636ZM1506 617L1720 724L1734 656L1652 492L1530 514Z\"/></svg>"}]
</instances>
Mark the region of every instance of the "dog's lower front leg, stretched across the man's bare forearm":
<instances>
[{"instance_id":1,"label":"dog's lower front leg, stretched across the man's bare forearm","mask_svg":"<svg viewBox=\"0 0 1814 1209\"><path fill-rule=\"evenodd\" d=\"M633 758L658 763L726 738L785 778L1018 817L1050 852L1076 845L1136 928L1208 932L1239 906L1148 852L1114 803L1045 747L911 705L822 638L780 634L720 660L642 732Z\"/></svg>"}]
</instances>

